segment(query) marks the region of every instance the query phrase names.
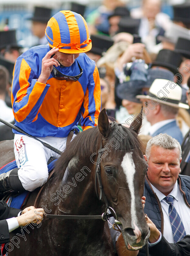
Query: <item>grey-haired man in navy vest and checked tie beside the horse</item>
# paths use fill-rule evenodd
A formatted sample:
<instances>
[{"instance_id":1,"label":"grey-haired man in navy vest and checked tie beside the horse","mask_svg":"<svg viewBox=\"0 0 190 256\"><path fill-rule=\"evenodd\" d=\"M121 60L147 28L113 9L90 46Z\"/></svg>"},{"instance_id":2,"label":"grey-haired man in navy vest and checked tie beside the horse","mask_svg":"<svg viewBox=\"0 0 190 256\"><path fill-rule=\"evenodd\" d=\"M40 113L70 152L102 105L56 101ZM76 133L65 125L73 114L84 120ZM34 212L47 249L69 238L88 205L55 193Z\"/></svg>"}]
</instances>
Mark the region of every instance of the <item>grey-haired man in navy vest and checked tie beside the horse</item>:
<instances>
[{"instance_id":1,"label":"grey-haired man in navy vest and checked tie beside the horse","mask_svg":"<svg viewBox=\"0 0 190 256\"><path fill-rule=\"evenodd\" d=\"M190 234L190 177L179 175L181 146L176 139L161 133L148 141L144 158L148 162L144 212L160 231L160 239L152 246L161 240L162 235L170 243L180 241L185 235ZM180 220L175 232L172 226L176 226L176 223L171 222L174 212L171 214L168 196L173 198L173 211L175 210L176 215L174 219ZM112 230L111 232L117 249L120 233L113 234ZM140 250L138 255L145 255L145 251Z\"/></svg>"}]
</instances>

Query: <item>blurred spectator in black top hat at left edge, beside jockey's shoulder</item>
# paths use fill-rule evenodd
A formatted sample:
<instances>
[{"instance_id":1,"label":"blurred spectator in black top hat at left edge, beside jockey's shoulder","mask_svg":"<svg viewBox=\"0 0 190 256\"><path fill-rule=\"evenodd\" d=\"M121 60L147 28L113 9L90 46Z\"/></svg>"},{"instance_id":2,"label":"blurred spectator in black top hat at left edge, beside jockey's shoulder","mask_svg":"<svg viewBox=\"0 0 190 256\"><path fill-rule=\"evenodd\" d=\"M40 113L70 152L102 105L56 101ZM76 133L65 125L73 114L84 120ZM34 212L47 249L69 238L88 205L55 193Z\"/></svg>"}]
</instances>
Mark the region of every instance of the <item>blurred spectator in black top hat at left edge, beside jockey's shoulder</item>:
<instances>
[{"instance_id":1,"label":"blurred spectator in black top hat at left edge, beside jockey's shoulder","mask_svg":"<svg viewBox=\"0 0 190 256\"><path fill-rule=\"evenodd\" d=\"M16 30L0 31L0 55L15 62L20 56L21 46L16 41Z\"/></svg>"}]
</instances>

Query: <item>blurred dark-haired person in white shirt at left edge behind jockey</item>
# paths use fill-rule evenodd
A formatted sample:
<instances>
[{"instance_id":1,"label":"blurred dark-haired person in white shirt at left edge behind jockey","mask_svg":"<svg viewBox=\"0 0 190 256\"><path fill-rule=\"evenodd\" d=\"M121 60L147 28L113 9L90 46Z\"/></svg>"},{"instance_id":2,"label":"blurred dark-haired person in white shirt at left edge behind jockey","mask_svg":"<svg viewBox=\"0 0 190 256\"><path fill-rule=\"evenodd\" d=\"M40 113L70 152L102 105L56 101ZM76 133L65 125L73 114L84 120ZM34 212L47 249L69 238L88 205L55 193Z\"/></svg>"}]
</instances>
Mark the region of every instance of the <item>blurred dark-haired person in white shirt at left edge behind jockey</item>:
<instances>
[{"instance_id":1,"label":"blurred dark-haired person in white shirt at left edge behind jockey","mask_svg":"<svg viewBox=\"0 0 190 256\"><path fill-rule=\"evenodd\" d=\"M14 122L12 108L5 103L6 87L9 83L9 71L0 66L0 118L7 122ZM12 129L0 122L0 141L14 138Z\"/></svg>"}]
</instances>

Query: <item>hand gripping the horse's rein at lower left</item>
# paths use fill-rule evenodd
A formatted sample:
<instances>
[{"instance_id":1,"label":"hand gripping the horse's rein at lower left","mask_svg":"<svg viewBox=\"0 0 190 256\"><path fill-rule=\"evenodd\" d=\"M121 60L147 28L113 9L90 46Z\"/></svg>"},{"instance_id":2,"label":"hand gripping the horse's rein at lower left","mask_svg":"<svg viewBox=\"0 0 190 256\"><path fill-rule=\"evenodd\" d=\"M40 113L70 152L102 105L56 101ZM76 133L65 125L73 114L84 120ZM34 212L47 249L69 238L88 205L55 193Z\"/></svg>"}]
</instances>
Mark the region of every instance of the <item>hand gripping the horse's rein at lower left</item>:
<instances>
[{"instance_id":1,"label":"hand gripping the horse's rein at lower left","mask_svg":"<svg viewBox=\"0 0 190 256\"><path fill-rule=\"evenodd\" d=\"M34 224L39 224L43 220L43 213L45 213L43 208L34 208L26 211L25 213L22 212L22 215L16 217L16 219L19 223L19 226L25 226L31 222Z\"/></svg>"}]
</instances>

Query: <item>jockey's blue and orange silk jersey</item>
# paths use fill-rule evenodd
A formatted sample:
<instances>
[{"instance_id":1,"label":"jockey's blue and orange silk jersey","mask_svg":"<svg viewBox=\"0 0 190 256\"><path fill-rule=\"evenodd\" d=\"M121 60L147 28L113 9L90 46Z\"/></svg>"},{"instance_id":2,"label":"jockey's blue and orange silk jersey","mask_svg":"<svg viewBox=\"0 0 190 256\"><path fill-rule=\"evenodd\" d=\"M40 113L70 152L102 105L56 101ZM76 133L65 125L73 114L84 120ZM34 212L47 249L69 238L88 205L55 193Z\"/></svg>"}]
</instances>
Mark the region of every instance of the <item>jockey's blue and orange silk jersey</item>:
<instances>
[{"instance_id":1,"label":"jockey's blue and orange silk jersey","mask_svg":"<svg viewBox=\"0 0 190 256\"><path fill-rule=\"evenodd\" d=\"M15 125L36 137L66 137L70 130L78 130L81 117L83 130L96 126L101 96L95 62L81 53L77 61L83 74L78 81L57 80L50 75L43 84L37 79L48 51L49 46L35 46L16 60L11 95ZM57 69L69 76L80 73L76 60L70 67Z\"/></svg>"}]
</instances>

